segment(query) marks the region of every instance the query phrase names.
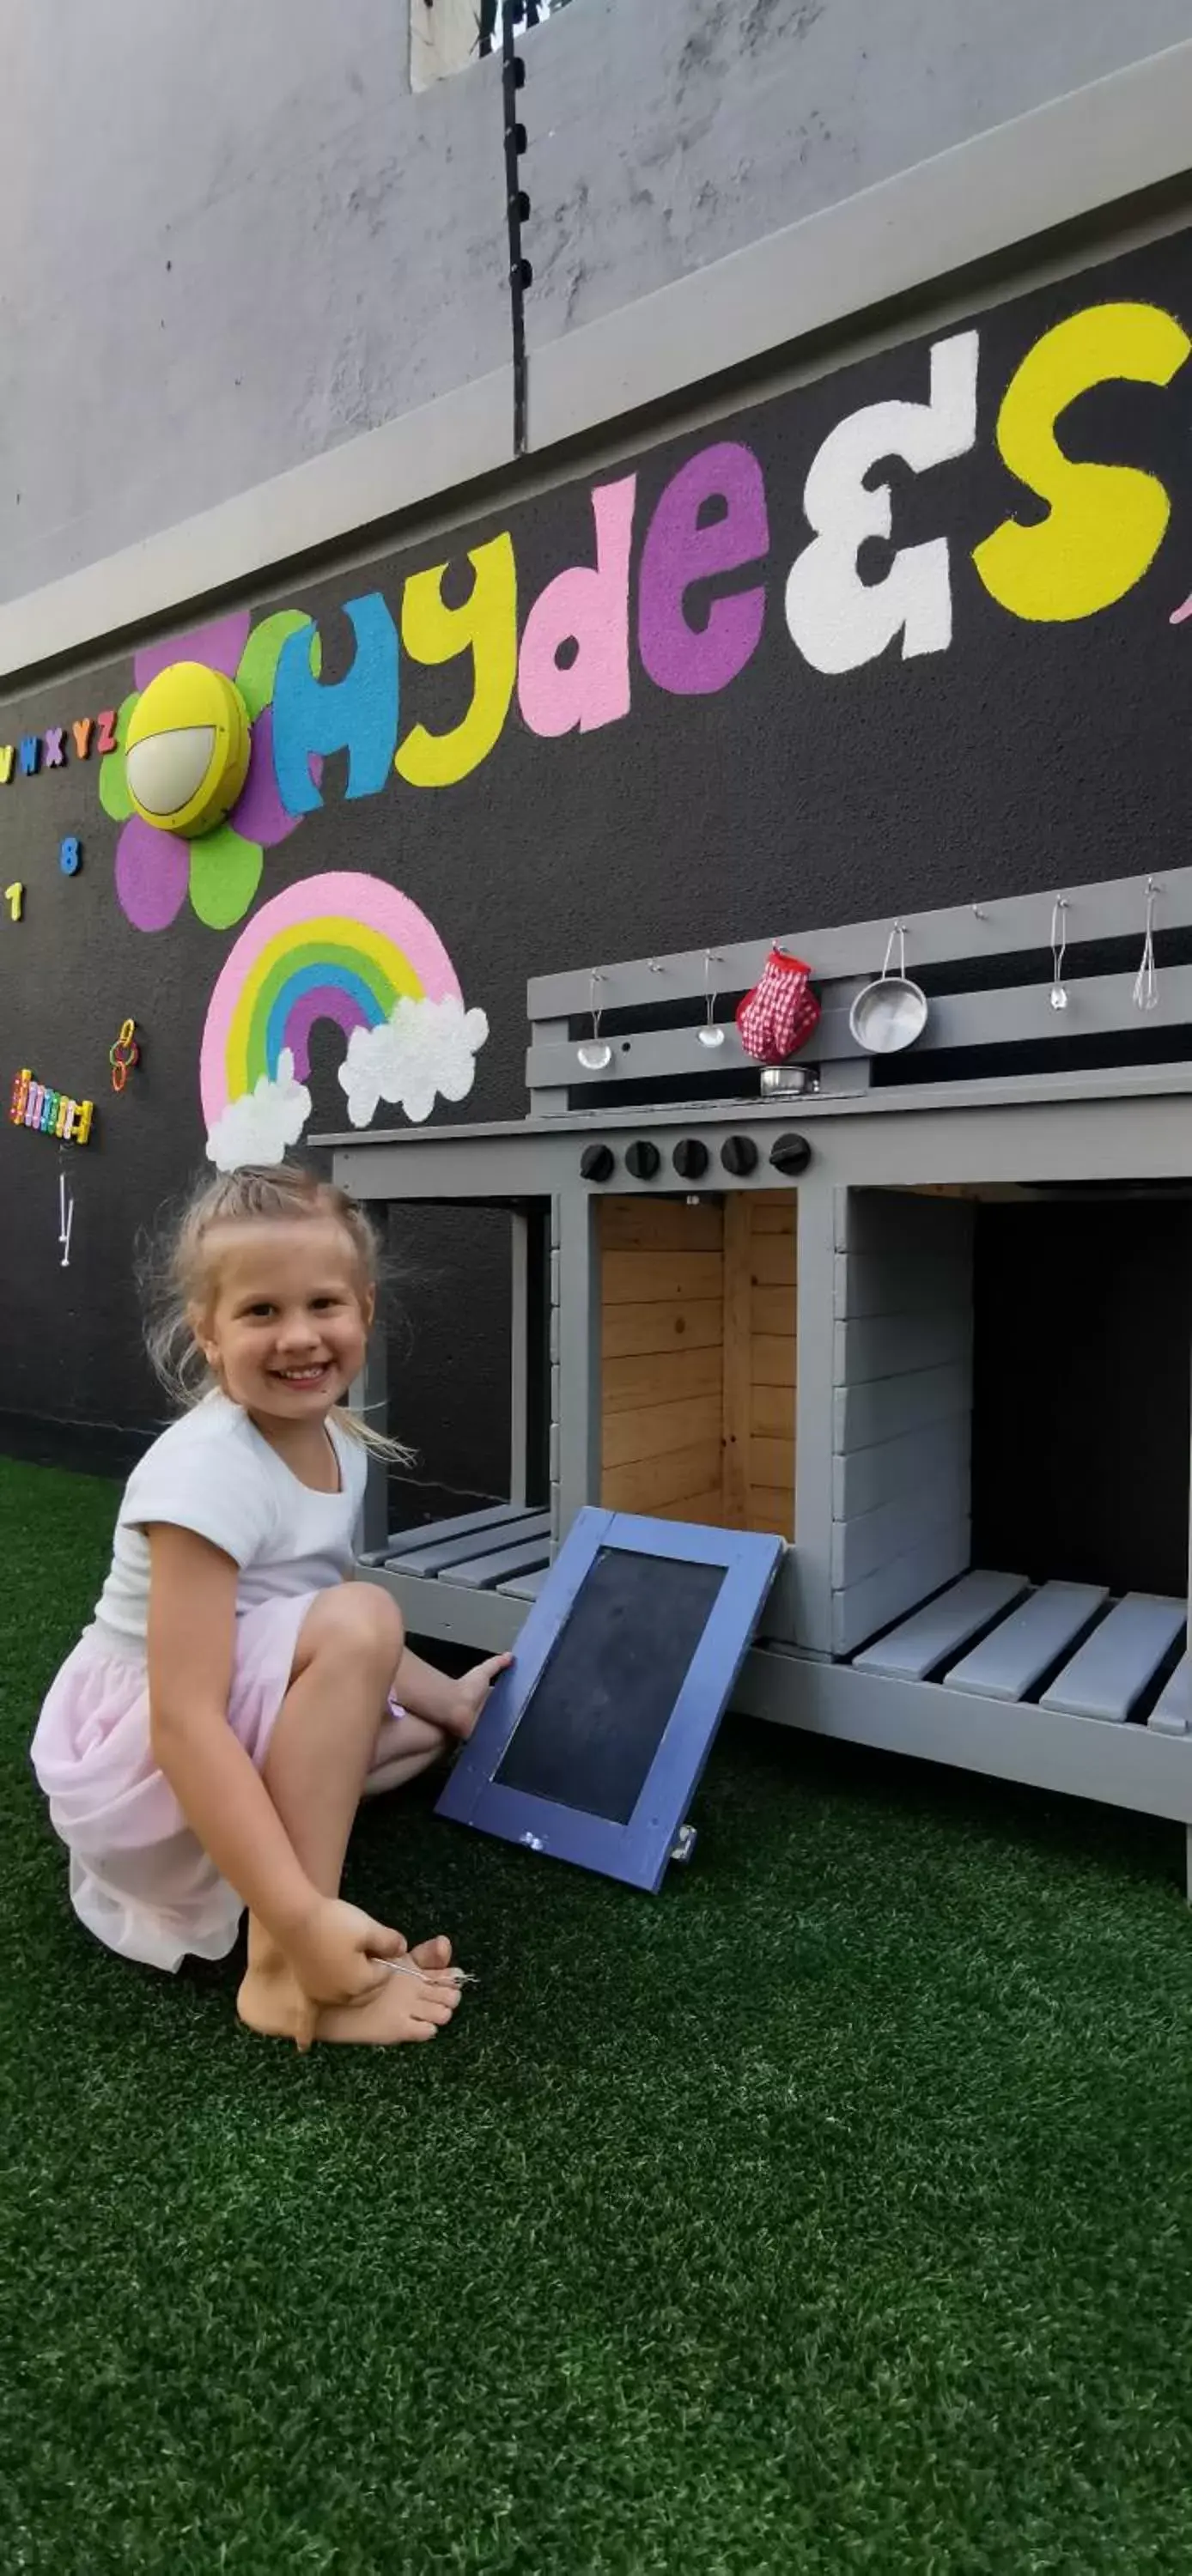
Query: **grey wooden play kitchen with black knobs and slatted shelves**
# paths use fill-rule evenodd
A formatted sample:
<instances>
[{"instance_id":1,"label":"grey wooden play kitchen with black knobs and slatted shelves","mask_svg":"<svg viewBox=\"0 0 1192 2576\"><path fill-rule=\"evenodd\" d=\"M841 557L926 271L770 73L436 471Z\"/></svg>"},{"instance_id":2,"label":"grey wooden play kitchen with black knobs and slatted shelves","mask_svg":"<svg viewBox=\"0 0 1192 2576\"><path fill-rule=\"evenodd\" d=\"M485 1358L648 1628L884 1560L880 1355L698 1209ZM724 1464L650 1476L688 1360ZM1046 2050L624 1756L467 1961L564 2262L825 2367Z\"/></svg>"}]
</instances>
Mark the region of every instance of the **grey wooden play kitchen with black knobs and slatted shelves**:
<instances>
[{"instance_id":1,"label":"grey wooden play kitchen with black knobs and slatted shelves","mask_svg":"<svg viewBox=\"0 0 1192 2576\"><path fill-rule=\"evenodd\" d=\"M765 1069L713 992L767 940L551 974L528 1118L322 1139L378 1213L512 1216L510 1497L394 1535L371 1484L363 1569L412 1633L510 1646L590 1502L775 1530L736 1708L1166 1816L1192 1855L1187 1582L1079 1579L1063 1525L1048 1564L971 1553L976 1211L1192 1195L1189 930L1171 871L806 933L821 1023ZM891 956L924 1010L875 1051Z\"/></svg>"}]
</instances>

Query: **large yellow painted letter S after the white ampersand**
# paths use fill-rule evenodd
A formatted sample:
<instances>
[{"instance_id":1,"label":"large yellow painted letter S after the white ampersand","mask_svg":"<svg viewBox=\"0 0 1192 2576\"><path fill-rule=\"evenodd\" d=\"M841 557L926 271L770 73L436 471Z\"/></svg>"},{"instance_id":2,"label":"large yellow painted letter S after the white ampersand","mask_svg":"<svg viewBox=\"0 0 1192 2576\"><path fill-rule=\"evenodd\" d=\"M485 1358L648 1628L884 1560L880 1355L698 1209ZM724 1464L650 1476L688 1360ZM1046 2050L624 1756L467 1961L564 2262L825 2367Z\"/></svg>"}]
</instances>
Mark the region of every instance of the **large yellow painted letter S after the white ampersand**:
<instances>
[{"instance_id":1,"label":"large yellow painted letter S after the white ampersand","mask_svg":"<svg viewBox=\"0 0 1192 2576\"><path fill-rule=\"evenodd\" d=\"M1122 600L1159 554L1171 518L1164 484L1138 466L1071 464L1061 412L1094 384L1171 384L1192 340L1156 304L1094 304L1045 332L1007 386L996 443L1048 518L1007 518L973 554L1001 608L1035 623L1092 618Z\"/></svg>"}]
</instances>

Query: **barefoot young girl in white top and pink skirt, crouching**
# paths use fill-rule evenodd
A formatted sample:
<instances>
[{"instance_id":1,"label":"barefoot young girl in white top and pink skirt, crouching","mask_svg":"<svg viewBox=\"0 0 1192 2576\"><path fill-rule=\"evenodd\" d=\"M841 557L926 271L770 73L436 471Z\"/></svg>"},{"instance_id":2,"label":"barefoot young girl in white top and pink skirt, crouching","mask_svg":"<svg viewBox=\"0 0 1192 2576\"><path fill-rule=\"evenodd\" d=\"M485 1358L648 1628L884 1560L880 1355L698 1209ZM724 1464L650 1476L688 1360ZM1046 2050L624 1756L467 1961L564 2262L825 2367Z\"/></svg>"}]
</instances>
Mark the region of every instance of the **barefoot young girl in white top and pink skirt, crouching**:
<instances>
[{"instance_id":1,"label":"barefoot young girl in white top and pink skirt, crouching","mask_svg":"<svg viewBox=\"0 0 1192 2576\"><path fill-rule=\"evenodd\" d=\"M373 1306L373 1234L342 1190L286 1164L196 1193L149 1337L188 1409L129 1476L33 1739L80 1922L178 1968L224 1958L247 1906L239 2020L299 2048L451 2022L451 1942L407 1950L342 1904L340 1873L358 1798L469 1736L510 1662L451 1682L353 1582L366 1445L402 1455L342 1412Z\"/></svg>"}]
</instances>

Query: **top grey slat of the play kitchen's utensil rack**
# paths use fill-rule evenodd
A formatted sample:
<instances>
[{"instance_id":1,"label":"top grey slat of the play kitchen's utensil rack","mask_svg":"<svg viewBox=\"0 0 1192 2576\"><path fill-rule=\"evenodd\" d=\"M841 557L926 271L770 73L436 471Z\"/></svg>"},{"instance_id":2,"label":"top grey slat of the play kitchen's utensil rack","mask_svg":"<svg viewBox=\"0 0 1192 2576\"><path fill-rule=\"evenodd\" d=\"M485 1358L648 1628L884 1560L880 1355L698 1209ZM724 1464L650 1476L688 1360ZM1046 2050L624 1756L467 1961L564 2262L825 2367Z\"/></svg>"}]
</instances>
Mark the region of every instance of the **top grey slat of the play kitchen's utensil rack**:
<instances>
[{"instance_id":1,"label":"top grey slat of the play kitchen's utensil rack","mask_svg":"<svg viewBox=\"0 0 1192 2576\"><path fill-rule=\"evenodd\" d=\"M973 904L953 904L940 912L919 912L906 922L906 974L917 974L919 966L945 966L953 958L996 958L996 956L1022 956L1032 948L1050 948L1050 912L1056 891L1066 894L1066 933L1068 945L1079 940L1115 940L1133 938L1143 920L1143 873L1115 876L1102 886L1048 886L1040 894L1017 894L999 902L981 902L978 914ZM1192 922L1192 868L1164 868L1164 894L1159 907L1159 930L1174 930ZM886 940L891 935L891 920L880 922L844 922L829 930L796 930L785 935L785 945L793 945L801 958L808 961L816 984L834 976L870 976L878 974ZM762 974L765 958L770 953L770 940L741 940L718 951L716 974L721 979L721 992L744 992ZM657 976L646 958L628 958L623 963L602 966L602 992L600 999L605 1010L636 1007L641 1002L659 999L693 999L703 994L703 948L685 948L662 961L664 974ZM1171 969L1177 971L1177 969ZM1122 992L1122 1005L1130 1005L1130 976L1115 979ZM1161 979L1164 984L1166 979ZM1043 1002L1048 989L1040 987ZM996 1002L994 994L978 999ZM533 976L528 987L530 1020L546 1018L577 1018L592 1005L592 969L577 966L566 974ZM1061 1012L1048 1012L1048 1018L1061 1018ZM1068 1018L1063 1012L1063 1018Z\"/></svg>"}]
</instances>

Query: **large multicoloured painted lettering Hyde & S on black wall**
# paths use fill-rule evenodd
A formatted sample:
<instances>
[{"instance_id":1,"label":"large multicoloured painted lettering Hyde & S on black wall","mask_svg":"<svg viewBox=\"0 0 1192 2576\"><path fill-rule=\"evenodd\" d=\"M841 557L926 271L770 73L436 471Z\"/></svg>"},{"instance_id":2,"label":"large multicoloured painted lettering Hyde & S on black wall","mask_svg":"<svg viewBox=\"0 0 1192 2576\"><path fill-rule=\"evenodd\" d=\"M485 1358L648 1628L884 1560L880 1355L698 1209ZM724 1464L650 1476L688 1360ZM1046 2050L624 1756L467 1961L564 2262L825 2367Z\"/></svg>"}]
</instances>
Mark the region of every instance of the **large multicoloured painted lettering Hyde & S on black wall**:
<instances>
[{"instance_id":1,"label":"large multicoloured painted lettering Hyde & S on black wall","mask_svg":"<svg viewBox=\"0 0 1192 2576\"><path fill-rule=\"evenodd\" d=\"M1184 327L1153 304L1092 304L1027 350L1001 397L996 443L1017 482L1048 507L1032 523L1001 520L973 549L983 590L1009 616L1086 618L1141 582L1171 515L1164 484L1138 466L1074 464L1056 425L1097 384L1169 386L1189 350ZM811 538L785 572L783 603L790 639L814 670L852 672L891 644L901 659L950 649L953 544L932 536L901 546L893 487L878 469L899 459L929 474L973 451L978 353L976 330L937 340L927 353L924 399L865 404L829 430L811 459L803 484ZM718 696L739 680L762 639L762 572L772 544L754 451L739 438L713 440L664 484L641 531L633 636L636 500L636 474L595 484L592 559L546 582L528 608L520 649L512 536L469 554L471 595L458 608L443 600L445 564L409 574L402 592L407 662L471 654L471 698L448 732L414 721L396 742L396 634L376 592L345 608L355 662L335 688L314 680L317 631L293 636L273 706L283 806L309 814L322 801L309 760L327 750L348 750L348 796L376 793L389 762L420 788L469 778L499 742L515 688L530 734L551 739L618 724L631 711L631 641L644 675L667 696ZM888 554L880 577L862 551L873 541ZM754 582L708 587L749 569L759 574Z\"/></svg>"}]
</instances>

